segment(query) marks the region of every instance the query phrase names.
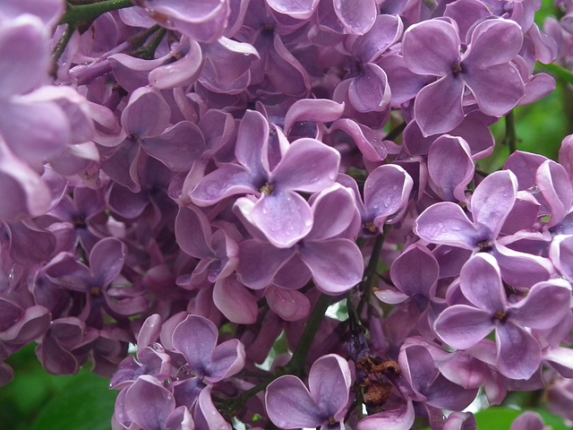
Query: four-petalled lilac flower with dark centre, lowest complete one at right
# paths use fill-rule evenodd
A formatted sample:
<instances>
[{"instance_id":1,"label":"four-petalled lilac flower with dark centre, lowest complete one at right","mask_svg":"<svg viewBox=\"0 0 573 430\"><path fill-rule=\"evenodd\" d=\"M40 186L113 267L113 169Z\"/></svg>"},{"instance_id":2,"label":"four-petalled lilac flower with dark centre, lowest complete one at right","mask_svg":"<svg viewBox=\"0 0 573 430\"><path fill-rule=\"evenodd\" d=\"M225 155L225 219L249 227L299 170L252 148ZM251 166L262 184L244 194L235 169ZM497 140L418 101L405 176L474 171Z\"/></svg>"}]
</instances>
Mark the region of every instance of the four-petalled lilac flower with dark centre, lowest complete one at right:
<instances>
[{"instance_id":1,"label":"four-petalled lilac flower with dark centre, lowest complete one at right","mask_svg":"<svg viewBox=\"0 0 573 430\"><path fill-rule=\"evenodd\" d=\"M466 349L495 330L497 366L512 379L531 377L541 364L541 347L526 328L549 329L570 312L569 283L535 284L528 295L510 303L500 268L489 254L476 254L462 268L459 286L468 305L451 305L434 323L449 346Z\"/></svg>"}]
</instances>

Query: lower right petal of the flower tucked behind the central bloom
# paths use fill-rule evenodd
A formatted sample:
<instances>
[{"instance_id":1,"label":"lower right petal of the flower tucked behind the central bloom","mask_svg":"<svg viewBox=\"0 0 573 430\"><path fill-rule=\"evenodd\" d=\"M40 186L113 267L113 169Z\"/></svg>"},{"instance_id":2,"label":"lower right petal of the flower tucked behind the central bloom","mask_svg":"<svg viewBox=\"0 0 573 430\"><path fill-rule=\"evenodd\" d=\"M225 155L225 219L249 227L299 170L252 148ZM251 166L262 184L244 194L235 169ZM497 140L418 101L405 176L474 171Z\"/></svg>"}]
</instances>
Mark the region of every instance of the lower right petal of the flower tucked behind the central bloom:
<instances>
[{"instance_id":1,"label":"lower right petal of the flower tucked behind the central bloom","mask_svg":"<svg viewBox=\"0 0 573 430\"><path fill-rule=\"evenodd\" d=\"M353 288L363 276L363 256L354 241L329 239L304 243L298 250L317 288L330 295Z\"/></svg>"}]
</instances>

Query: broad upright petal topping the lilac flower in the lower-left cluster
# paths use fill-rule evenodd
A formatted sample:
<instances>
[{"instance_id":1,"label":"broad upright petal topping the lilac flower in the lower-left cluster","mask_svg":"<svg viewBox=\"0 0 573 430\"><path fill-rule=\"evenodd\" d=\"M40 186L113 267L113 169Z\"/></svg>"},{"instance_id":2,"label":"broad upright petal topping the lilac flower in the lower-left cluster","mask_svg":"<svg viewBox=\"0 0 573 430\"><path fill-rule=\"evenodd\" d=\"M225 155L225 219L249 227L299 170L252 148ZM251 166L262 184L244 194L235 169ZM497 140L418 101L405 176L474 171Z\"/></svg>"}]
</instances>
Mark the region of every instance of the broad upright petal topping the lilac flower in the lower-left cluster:
<instances>
[{"instance_id":1,"label":"broad upright petal topping the lilac flower in the lower-left cluster","mask_svg":"<svg viewBox=\"0 0 573 430\"><path fill-rule=\"evenodd\" d=\"M199 315L188 315L173 331L173 346L181 352L192 371L207 373L211 355L217 346L218 330L214 323Z\"/></svg>"}]
</instances>

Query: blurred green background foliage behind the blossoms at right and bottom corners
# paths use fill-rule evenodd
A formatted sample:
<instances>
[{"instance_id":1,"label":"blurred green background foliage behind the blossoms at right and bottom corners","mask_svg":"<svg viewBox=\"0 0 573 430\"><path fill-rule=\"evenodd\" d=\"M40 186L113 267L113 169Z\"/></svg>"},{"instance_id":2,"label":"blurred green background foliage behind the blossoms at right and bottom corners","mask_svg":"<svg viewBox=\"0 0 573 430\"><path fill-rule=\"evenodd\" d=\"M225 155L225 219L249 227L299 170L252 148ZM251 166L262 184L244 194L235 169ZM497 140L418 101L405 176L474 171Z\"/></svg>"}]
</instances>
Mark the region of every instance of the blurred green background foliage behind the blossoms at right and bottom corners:
<instances>
[{"instance_id":1,"label":"blurred green background foliage behind the blossoms at right and bottom corners","mask_svg":"<svg viewBox=\"0 0 573 430\"><path fill-rule=\"evenodd\" d=\"M543 0L536 22L543 29L547 16L560 17L552 0ZM540 68L539 71L542 71ZM517 107L513 115L517 135L517 150L542 154L557 159L560 143L573 133L572 86L557 80L557 90L531 106ZM503 166L509 147L502 144L506 120L492 126L496 150L492 157L482 160L479 168L492 172ZM91 374L86 367L73 376L47 374L39 364L34 346L23 348L7 361L16 373L14 381L0 388L0 430L109 430L118 391L108 390L109 381ZM509 430L521 412L519 405L511 408L490 408L477 413L479 428ZM542 413L553 430L565 430L559 417L543 409L525 407Z\"/></svg>"}]
</instances>

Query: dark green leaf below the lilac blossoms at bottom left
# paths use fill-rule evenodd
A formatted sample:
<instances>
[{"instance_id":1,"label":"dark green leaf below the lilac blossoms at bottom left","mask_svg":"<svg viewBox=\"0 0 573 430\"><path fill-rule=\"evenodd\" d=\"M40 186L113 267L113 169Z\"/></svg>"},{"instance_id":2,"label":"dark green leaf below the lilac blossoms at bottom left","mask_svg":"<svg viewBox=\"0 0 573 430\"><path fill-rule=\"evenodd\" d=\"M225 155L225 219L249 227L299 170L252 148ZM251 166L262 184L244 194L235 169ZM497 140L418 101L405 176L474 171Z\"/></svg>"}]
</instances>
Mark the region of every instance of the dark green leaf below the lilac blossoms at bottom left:
<instances>
[{"instance_id":1,"label":"dark green leaf below the lilac blossoms at bottom left","mask_svg":"<svg viewBox=\"0 0 573 430\"><path fill-rule=\"evenodd\" d=\"M109 430L118 391L109 380L83 370L41 409L30 430Z\"/></svg>"}]
</instances>

